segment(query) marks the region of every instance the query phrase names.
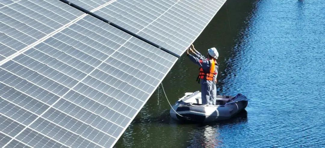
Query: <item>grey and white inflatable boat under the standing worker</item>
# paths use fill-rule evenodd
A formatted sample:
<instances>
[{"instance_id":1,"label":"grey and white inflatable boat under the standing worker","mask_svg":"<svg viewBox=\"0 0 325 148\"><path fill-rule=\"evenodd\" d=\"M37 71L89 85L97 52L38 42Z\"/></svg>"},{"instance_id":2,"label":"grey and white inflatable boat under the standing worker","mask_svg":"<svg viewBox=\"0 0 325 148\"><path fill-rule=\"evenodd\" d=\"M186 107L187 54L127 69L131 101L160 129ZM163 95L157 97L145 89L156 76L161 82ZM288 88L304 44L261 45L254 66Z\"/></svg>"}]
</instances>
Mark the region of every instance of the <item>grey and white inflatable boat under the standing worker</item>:
<instances>
[{"instance_id":1,"label":"grey and white inflatable boat under the standing worker","mask_svg":"<svg viewBox=\"0 0 325 148\"><path fill-rule=\"evenodd\" d=\"M218 105L201 104L201 102L201 92L185 93L185 96L172 106L169 113L173 119L179 121L211 122L226 120L245 109L248 99L244 95L238 94L234 97L217 96Z\"/></svg>"}]
</instances>

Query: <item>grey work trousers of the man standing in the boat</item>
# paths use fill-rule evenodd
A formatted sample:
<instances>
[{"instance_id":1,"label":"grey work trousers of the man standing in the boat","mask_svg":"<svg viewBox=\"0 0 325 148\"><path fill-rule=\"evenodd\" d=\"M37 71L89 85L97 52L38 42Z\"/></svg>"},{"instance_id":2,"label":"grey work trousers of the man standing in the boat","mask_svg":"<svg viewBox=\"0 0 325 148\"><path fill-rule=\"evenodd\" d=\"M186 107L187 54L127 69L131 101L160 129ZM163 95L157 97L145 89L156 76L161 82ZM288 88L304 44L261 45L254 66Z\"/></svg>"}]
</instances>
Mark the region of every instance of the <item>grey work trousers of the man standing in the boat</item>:
<instances>
[{"instance_id":1,"label":"grey work trousers of the man standing in the boat","mask_svg":"<svg viewBox=\"0 0 325 148\"><path fill-rule=\"evenodd\" d=\"M215 105L217 88L212 81L201 83L202 104Z\"/></svg>"}]
</instances>

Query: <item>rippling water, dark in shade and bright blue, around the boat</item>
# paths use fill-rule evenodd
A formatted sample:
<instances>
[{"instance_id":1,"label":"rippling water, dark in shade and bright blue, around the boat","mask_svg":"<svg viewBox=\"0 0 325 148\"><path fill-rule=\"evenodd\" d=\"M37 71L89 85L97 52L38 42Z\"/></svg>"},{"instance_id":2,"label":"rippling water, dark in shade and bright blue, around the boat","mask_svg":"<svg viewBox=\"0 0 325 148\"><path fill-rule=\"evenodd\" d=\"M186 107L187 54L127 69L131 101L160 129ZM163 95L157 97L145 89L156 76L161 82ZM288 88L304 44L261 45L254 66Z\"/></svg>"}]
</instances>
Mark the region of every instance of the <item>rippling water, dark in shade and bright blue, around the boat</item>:
<instances>
[{"instance_id":1,"label":"rippling water, dark in shade and bright blue, around the boat","mask_svg":"<svg viewBox=\"0 0 325 148\"><path fill-rule=\"evenodd\" d=\"M228 0L194 45L218 48L217 93L246 95L246 110L176 123L160 86L115 147L325 147L324 1ZM162 82L172 104L200 90L197 74L187 56L177 61Z\"/></svg>"}]
</instances>

